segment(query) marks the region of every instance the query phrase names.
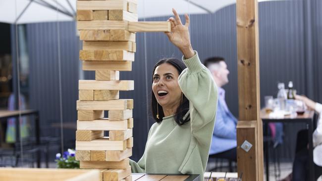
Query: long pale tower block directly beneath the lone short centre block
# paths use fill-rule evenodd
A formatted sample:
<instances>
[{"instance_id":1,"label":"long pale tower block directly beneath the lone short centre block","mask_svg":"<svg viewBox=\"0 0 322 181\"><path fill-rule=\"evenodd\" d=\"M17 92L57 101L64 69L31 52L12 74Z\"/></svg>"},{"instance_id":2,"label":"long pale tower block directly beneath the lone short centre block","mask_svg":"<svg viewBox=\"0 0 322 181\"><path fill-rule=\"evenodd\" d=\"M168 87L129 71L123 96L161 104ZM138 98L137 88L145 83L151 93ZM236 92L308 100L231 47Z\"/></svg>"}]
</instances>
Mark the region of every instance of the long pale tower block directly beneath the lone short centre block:
<instances>
[{"instance_id":1,"label":"long pale tower block directly beneath the lone short centre block","mask_svg":"<svg viewBox=\"0 0 322 181\"><path fill-rule=\"evenodd\" d=\"M78 83L79 90L134 90L134 81L79 80Z\"/></svg>"}]
</instances>

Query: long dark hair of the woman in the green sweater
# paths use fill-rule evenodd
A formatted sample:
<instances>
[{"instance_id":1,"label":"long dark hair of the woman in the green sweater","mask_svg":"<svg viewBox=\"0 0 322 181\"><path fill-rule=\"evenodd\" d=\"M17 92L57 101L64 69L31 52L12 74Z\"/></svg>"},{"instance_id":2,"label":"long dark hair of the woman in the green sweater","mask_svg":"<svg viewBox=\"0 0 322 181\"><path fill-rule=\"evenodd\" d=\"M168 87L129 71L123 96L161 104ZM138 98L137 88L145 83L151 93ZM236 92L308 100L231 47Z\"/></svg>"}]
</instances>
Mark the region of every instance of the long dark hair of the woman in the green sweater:
<instances>
[{"instance_id":1,"label":"long dark hair of the woman in the green sweater","mask_svg":"<svg viewBox=\"0 0 322 181\"><path fill-rule=\"evenodd\" d=\"M174 68L177 69L179 75L181 74L181 72L185 68L187 68L187 66L182 62L182 60L178 60L176 58L161 59L154 66L153 72L152 72L152 77L154 75L156 68L163 63L168 63L168 64L172 65ZM155 97L155 95L153 93L153 90L152 90L151 104L152 104L153 118L157 121L157 123L160 123L164 117L164 113L163 113L162 106L158 103L157 98ZM159 119L157 118L157 114L158 114L157 113L158 112L157 106L159 109ZM174 115L174 120L178 125L181 126L181 125L187 123L188 121L190 121L190 115L189 114L186 115L188 111L189 111L189 100L187 99L187 97L184 94L182 94L182 103L178 106L178 108L175 112L175 115Z\"/></svg>"}]
</instances>

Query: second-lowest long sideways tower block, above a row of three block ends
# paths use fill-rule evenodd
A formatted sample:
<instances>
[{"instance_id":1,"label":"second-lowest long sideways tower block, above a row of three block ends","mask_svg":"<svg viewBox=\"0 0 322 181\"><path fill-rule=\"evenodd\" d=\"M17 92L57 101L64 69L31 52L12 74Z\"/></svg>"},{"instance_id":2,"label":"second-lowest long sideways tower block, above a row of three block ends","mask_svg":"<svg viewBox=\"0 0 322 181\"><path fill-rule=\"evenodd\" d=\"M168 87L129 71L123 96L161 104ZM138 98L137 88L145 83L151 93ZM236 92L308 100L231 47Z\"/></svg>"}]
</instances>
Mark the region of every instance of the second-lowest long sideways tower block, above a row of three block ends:
<instances>
[{"instance_id":1,"label":"second-lowest long sideways tower block, above a row of three block ends","mask_svg":"<svg viewBox=\"0 0 322 181\"><path fill-rule=\"evenodd\" d=\"M76 140L76 150L122 151L126 149L126 144L126 141L111 141L108 137L101 137L92 141Z\"/></svg>"}]
</instances>

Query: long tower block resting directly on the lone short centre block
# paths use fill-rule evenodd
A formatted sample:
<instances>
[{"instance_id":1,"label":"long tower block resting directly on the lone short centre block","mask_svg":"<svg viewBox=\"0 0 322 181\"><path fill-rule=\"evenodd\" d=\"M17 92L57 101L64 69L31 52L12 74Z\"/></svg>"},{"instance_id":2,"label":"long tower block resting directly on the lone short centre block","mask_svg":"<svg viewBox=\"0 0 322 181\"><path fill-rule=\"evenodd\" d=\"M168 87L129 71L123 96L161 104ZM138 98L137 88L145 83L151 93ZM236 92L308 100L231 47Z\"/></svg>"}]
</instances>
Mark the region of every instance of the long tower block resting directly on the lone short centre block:
<instances>
[{"instance_id":1,"label":"long tower block resting directly on the lone short centre block","mask_svg":"<svg viewBox=\"0 0 322 181\"><path fill-rule=\"evenodd\" d=\"M83 70L132 71L132 61L83 61Z\"/></svg>"}]
</instances>

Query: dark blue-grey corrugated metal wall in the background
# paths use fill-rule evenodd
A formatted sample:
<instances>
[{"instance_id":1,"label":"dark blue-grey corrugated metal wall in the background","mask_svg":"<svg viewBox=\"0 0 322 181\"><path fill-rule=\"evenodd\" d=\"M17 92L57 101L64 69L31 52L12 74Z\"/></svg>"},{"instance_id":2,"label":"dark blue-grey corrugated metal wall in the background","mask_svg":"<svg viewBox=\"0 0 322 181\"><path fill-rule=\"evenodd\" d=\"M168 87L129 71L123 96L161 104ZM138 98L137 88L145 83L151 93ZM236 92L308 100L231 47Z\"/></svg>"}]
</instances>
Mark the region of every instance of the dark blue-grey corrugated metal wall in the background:
<instances>
[{"instance_id":1,"label":"dark blue-grey corrugated metal wall in the background","mask_svg":"<svg viewBox=\"0 0 322 181\"><path fill-rule=\"evenodd\" d=\"M302 0L269 1L259 5L260 21L260 74L261 99L264 95L277 94L277 83L293 81L301 94L306 94L304 12ZM313 18L315 47L316 100L322 102L322 2L316 0ZM320 11L318 10L320 9ZM146 21L165 21L167 17L150 18ZM214 14L191 16L191 38L194 49L204 60L209 56L226 58L230 70L226 101L232 113L238 117L237 95L237 49L236 49L236 7L227 6ZM78 99L78 47L74 22L59 23L62 98L64 122L75 122L76 100ZM27 25L30 56L30 100L31 107L41 112L42 126L49 126L50 120L59 120L59 87L57 64L56 23L38 23ZM146 39L144 39L146 36ZM146 42L146 44L145 44ZM154 64L163 57L181 58L180 52L171 45L162 33L137 34L137 52L132 72L121 72L122 80L134 80L135 90L121 92L121 98L134 98L134 150L133 159L137 160L144 151L149 127L154 123L147 115L147 102L150 107L151 76ZM145 65L145 61L147 65ZM147 73L145 72L147 67ZM147 77L146 77L147 76ZM86 79L94 79L93 73L86 73ZM146 82L146 79L148 82ZM148 90L148 92L146 91ZM148 96L149 101L146 100ZM147 117L150 117L147 122ZM294 132L301 126L285 126L286 132ZM75 130L65 130L68 139L74 139ZM43 135L46 133L43 132ZM288 134L288 133L286 133ZM294 146L294 134L293 144ZM71 145L73 146L73 145ZM290 153L284 154L291 158ZM291 156L291 157L290 157Z\"/></svg>"}]
</instances>

